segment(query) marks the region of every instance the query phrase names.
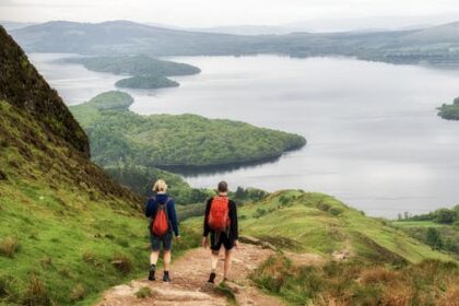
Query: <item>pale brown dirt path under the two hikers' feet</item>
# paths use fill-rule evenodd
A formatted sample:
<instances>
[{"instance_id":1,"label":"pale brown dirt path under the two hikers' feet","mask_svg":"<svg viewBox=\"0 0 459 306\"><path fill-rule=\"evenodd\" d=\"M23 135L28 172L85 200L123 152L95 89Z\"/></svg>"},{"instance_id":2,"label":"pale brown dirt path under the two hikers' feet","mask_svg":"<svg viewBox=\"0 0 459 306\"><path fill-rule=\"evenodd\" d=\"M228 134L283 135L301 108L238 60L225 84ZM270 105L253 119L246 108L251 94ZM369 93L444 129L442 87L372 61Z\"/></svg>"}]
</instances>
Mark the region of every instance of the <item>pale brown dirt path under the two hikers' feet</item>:
<instances>
[{"instance_id":1,"label":"pale brown dirt path under the two hikers' feet","mask_svg":"<svg viewBox=\"0 0 459 306\"><path fill-rule=\"evenodd\" d=\"M248 280L248 275L274 251L261 246L240 244L235 250L231 281L226 285L236 296L237 305L274 306L283 303L257 290ZM223 254L223 251L222 251ZM216 283L223 274L223 256L219 262ZM173 262L172 283L161 281L163 271L157 271L155 282L146 280L132 281L107 291L99 306L131 305L229 305L228 299L207 283L210 270L209 250L192 249ZM145 271L146 273L146 271ZM153 295L146 298L136 297L136 293L148 286Z\"/></svg>"}]
</instances>

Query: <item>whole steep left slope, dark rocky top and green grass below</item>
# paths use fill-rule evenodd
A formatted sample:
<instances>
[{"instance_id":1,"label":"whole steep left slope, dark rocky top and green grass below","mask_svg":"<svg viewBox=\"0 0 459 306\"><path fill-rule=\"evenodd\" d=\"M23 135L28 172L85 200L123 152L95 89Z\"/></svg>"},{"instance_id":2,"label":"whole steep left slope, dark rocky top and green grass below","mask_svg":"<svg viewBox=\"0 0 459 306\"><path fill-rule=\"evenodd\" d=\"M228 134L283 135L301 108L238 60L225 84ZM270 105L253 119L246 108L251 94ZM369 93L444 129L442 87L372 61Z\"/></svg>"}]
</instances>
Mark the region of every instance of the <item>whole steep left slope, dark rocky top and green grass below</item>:
<instances>
[{"instance_id":1,"label":"whole steep left slope, dark rocky top and green grass below","mask_svg":"<svg viewBox=\"0 0 459 306\"><path fill-rule=\"evenodd\" d=\"M0 304L86 304L148 267L142 199L89 161L70 111L0 36Z\"/></svg>"}]
</instances>

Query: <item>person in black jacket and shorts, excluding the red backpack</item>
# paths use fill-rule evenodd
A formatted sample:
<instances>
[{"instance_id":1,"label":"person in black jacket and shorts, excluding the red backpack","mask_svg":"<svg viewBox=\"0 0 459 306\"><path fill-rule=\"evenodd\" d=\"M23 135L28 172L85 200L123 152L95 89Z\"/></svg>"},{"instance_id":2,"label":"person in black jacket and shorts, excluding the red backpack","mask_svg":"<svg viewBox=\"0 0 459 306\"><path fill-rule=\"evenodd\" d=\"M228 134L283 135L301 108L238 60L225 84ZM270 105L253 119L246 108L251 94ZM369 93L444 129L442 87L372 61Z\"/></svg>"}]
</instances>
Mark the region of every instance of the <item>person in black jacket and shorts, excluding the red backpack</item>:
<instances>
[{"instance_id":1,"label":"person in black jacket and shorts, excluding the red backpack","mask_svg":"<svg viewBox=\"0 0 459 306\"><path fill-rule=\"evenodd\" d=\"M227 197L228 186L226 181L219 183L217 187L219 196L220 197ZM223 232L215 232L209 225L209 215L211 212L213 199L209 199L205 207L205 216L204 216L204 224L203 224L203 234L202 234L202 246L207 248L209 246L208 236L210 234L210 248L211 252L211 273L209 276L209 283L214 283L215 281L215 271L216 264L219 262L219 254L222 245L225 248L225 264L224 264L224 273L223 280L228 280L228 273L232 263L232 250L233 248L238 247L238 228L237 228L237 208L236 203L228 199L228 217L229 217L229 226L226 231Z\"/></svg>"}]
</instances>

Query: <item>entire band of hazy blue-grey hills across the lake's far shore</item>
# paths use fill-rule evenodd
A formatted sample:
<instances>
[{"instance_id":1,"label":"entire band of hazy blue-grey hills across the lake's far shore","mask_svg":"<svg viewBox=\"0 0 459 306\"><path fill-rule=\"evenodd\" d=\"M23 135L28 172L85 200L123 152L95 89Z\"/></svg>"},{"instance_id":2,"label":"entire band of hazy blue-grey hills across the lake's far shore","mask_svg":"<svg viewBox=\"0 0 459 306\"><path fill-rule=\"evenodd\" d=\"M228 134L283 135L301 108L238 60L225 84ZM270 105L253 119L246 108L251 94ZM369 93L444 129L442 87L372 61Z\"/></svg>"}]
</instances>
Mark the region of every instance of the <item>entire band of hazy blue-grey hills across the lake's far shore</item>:
<instances>
[{"instance_id":1,"label":"entire band of hazy blue-grey hills across the lake's far shore","mask_svg":"<svg viewBox=\"0 0 459 306\"><path fill-rule=\"evenodd\" d=\"M48 22L13 30L27 51L92 55L197 56L281 54L351 56L392 63L457 63L457 23L404 31L231 35L129 21ZM246 33L247 34L247 33Z\"/></svg>"}]
</instances>

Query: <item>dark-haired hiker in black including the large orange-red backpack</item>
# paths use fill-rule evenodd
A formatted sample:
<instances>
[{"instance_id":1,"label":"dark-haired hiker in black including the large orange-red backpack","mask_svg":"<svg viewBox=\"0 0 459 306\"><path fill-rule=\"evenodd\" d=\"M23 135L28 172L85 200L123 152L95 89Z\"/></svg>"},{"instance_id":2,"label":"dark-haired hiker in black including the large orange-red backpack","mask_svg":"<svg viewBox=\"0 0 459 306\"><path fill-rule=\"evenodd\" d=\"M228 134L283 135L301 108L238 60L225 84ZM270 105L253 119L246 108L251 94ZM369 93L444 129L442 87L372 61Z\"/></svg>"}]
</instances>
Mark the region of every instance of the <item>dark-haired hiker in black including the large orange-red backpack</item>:
<instances>
[{"instance_id":1,"label":"dark-haired hiker in black including the large orange-red backpack","mask_svg":"<svg viewBox=\"0 0 459 306\"><path fill-rule=\"evenodd\" d=\"M225 248L223 281L228 280L232 251L234 247L238 247L236 203L228 199L228 185L226 181L219 183L217 191L219 196L208 200L202 235L202 246L207 248L209 246L208 236L210 234L212 269L208 281L209 283L215 282L216 264L219 262L219 254L222 245Z\"/></svg>"}]
</instances>

